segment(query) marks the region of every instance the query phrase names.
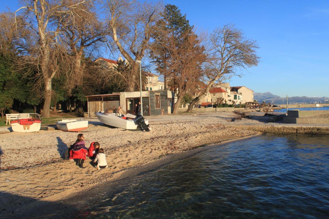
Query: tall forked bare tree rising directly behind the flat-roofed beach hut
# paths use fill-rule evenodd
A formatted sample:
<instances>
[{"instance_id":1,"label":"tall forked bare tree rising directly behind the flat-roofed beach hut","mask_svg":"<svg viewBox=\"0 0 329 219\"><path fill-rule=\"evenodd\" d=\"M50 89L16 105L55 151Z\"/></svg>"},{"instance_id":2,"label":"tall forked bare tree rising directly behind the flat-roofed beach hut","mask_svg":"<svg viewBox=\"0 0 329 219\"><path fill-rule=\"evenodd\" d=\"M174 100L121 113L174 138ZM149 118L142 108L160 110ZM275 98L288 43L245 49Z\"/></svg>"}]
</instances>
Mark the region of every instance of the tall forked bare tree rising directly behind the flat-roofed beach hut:
<instances>
[{"instance_id":1,"label":"tall forked bare tree rising directly behind the flat-roofed beach hut","mask_svg":"<svg viewBox=\"0 0 329 219\"><path fill-rule=\"evenodd\" d=\"M120 53L131 65L128 76L129 90L139 83L139 63L149 47L151 30L159 19L161 5L135 0L103 0L108 12L111 37Z\"/></svg>"}]
</instances>

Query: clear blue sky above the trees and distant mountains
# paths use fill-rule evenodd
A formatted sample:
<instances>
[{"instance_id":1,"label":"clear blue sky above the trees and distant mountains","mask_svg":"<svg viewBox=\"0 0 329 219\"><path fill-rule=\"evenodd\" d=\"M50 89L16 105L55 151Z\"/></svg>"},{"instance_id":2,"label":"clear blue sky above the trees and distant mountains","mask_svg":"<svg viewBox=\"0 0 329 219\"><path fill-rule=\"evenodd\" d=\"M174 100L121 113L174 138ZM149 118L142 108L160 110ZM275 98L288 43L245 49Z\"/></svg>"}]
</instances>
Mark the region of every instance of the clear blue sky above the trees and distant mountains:
<instances>
[{"instance_id":1,"label":"clear blue sky above the trees and distant mountains","mask_svg":"<svg viewBox=\"0 0 329 219\"><path fill-rule=\"evenodd\" d=\"M17 0L0 0L14 10ZM211 32L233 23L257 40L261 62L231 86L288 96L329 96L329 1L166 0L190 24Z\"/></svg>"}]
</instances>

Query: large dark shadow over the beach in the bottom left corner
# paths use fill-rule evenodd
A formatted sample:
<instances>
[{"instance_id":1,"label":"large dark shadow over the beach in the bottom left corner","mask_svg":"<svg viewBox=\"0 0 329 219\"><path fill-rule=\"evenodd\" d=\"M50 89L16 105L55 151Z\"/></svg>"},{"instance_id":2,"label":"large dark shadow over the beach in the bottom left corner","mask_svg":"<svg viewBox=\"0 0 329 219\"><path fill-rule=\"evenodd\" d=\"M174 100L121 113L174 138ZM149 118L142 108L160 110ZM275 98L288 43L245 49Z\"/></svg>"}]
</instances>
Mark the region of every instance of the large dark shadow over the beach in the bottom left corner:
<instances>
[{"instance_id":1,"label":"large dark shadow over the beach in the bottom left corner","mask_svg":"<svg viewBox=\"0 0 329 219\"><path fill-rule=\"evenodd\" d=\"M64 201L45 202L7 192L0 192L0 206L0 218L2 219L71 218L74 216L74 211L77 211L76 206Z\"/></svg>"}]
</instances>

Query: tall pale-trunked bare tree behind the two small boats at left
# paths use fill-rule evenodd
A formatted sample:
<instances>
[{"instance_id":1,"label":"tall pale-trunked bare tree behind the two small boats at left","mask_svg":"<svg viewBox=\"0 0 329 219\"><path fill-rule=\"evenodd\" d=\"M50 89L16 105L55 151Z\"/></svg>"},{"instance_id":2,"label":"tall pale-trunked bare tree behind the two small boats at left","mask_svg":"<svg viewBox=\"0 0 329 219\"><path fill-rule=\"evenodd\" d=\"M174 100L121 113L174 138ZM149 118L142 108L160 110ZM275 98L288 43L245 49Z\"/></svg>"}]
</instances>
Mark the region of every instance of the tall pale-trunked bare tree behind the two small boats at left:
<instances>
[{"instance_id":1,"label":"tall pale-trunked bare tree behind the two small boats at left","mask_svg":"<svg viewBox=\"0 0 329 219\"><path fill-rule=\"evenodd\" d=\"M40 70L37 69L44 87L43 117L49 117L52 79L59 72L59 64L66 55L66 49L61 45L61 30L56 17L60 14L74 14L79 5L86 2L87 0L22 0L21 4L24 6L15 12L15 15L25 17L25 25L36 36L27 52L40 66Z\"/></svg>"}]
</instances>

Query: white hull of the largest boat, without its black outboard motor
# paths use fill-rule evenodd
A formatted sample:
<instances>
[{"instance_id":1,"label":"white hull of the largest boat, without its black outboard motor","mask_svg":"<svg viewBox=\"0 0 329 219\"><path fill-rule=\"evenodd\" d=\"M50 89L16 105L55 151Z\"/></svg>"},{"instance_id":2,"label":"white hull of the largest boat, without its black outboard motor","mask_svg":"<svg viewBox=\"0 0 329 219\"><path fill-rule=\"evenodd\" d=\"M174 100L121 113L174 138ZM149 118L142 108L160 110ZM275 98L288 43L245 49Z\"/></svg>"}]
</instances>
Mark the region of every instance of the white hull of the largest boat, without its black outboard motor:
<instances>
[{"instance_id":1,"label":"white hull of the largest boat, without its black outboard motor","mask_svg":"<svg viewBox=\"0 0 329 219\"><path fill-rule=\"evenodd\" d=\"M117 116L115 113L104 114L103 112L96 112L96 116L105 125L128 130L136 130L139 127L139 124L135 121L136 116L130 113ZM144 122L148 125L147 119L144 119Z\"/></svg>"}]
</instances>

